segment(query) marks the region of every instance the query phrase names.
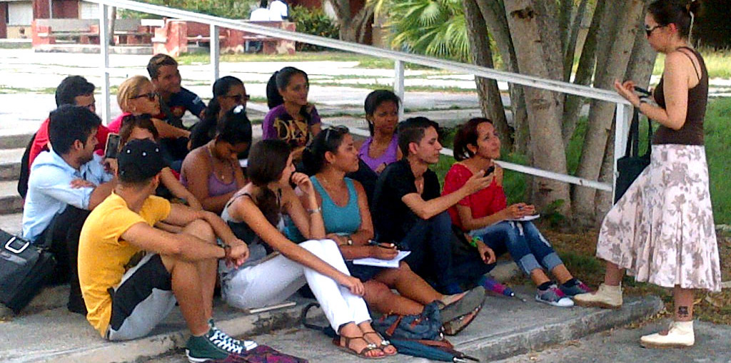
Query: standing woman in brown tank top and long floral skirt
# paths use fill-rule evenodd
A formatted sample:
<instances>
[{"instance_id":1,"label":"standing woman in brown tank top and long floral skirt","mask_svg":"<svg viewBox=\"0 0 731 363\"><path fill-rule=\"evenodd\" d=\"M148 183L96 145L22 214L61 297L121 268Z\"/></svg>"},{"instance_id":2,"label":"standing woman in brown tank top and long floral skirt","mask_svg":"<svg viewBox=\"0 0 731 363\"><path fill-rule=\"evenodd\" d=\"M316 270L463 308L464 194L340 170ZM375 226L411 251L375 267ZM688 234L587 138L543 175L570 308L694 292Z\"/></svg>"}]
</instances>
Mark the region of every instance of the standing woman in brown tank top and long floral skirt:
<instances>
[{"instance_id":1,"label":"standing woman in brown tank top and long floral skirt","mask_svg":"<svg viewBox=\"0 0 731 363\"><path fill-rule=\"evenodd\" d=\"M621 96L660 126L650 165L602 223L596 256L607 260L604 283L594 294L575 297L578 305L621 307L625 270L637 281L673 288L673 323L667 332L643 336L640 343L648 348L693 345L692 289L721 290L703 146L708 72L688 43L699 8L698 1L678 0L648 7L648 42L667 55L653 94L657 105L640 99L631 80L615 83Z\"/></svg>"}]
</instances>

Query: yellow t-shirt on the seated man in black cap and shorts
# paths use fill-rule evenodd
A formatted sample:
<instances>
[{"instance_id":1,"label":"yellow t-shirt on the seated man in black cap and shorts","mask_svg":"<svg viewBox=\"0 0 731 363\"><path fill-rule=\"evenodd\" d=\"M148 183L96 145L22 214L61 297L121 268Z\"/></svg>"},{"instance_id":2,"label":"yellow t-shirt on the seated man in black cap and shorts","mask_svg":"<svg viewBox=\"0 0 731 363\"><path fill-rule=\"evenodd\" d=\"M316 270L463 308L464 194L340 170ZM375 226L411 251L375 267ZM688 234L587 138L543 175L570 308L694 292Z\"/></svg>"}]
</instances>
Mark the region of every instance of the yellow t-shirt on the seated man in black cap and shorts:
<instances>
[{"instance_id":1,"label":"yellow t-shirt on the seated man in black cap and shorts","mask_svg":"<svg viewBox=\"0 0 731 363\"><path fill-rule=\"evenodd\" d=\"M125 265L140 252L121 235L140 222L153 226L168 214L170 202L158 196L149 196L137 214L112 193L86 218L79 237L79 283L88 310L86 320L102 337L112 317L112 297L107 291L120 283Z\"/></svg>"}]
</instances>

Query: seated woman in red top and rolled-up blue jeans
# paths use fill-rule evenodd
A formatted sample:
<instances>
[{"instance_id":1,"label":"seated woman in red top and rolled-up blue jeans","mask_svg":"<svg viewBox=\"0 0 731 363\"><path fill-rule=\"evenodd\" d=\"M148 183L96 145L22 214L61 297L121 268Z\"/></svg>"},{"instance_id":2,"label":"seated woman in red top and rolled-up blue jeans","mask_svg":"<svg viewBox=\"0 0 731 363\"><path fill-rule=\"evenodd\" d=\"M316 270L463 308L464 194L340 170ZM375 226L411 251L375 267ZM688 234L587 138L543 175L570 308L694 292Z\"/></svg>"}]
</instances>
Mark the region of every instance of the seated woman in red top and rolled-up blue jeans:
<instances>
[{"instance_id":1,"label":"seated woman in red top and rolled-up blue jeans","mask_svg":"<svg viewBox=\"0 0 731 363\"><path fill-rule=\"evenodd\" d=\"M486 175L492 173L493 182L451 207L452 223L475 237L480 256L510 252L515 263L538 286L537 301L560 307L573 306L569 297L582 294L588 288L571 275L533 223L519 221L533 215L535 207L526 203L507 205L502 187L503 170L494 162L500 157L500 139L492 121L487 118L467 121L457 132L454 145L458 162L444 178L444 194L458 190L480 170L486 170ZM544 268L553 274L559 286L551 282Z\"/></svg>"}]
</instances>

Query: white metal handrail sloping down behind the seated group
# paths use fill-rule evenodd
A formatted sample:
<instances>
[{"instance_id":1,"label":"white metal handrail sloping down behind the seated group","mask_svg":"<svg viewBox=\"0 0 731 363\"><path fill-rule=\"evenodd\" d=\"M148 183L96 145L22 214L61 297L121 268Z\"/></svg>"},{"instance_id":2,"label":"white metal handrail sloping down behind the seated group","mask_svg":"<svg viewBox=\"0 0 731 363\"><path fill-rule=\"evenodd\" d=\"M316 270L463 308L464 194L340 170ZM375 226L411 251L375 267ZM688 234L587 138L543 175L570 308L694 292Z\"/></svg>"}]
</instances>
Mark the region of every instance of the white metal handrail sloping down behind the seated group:
<instances>
[{"instance_id":1,"label":"white metal handrail sloping down behind the seated group","mask_svg":"<svg viewBox=\"0 0 731 363\"><path fill-rule=\"evenodd\" d=\"M319 45L322 47L330 47L337 50L345 50L352 53L364 54L367 56L374 56L377 58L388 58L395 61L395 82L394 91L396 94L404 96L404 62L413 64L420 64L422 66L430 66L438 69L446 69L452 72L463 72L468 74L474 74L479 77L485 77L493 80L504 81L508 83L514 83L517 85L524 85L528 87L534 87L539 89L545 89L548 91L556 91L561 93L568 93L575 96L582 96L589 99L597 99L605 102L613 102L616 104L616 127L615 127L615 141L614 141L614 158L615 158L615 173L612 184L600 183L596 180L588 180L580 177L574 177L572 175L561 175L556 172L549 172L546 170L526 167L518 164L511 164L501 162L506 169L513 169L518 172L525 172L530 175L537 175L540 177L548 177L550 179L560 180L565 183L572 183L579 186L588 186L590 188L596 188L603 191L613 191L616 185L616 161L621 157L621 150L626 143L626 125L629 122L629 114L632 104L626 101L626 99L618 96L614 91L603 90L600 88L592 88L586 85L575 85L573 83L562 82L558 80L547 80L539 77L534 77L526 74L518 74L512 72L504 72L496 69L485 68L483 66L476 66L474 64L463 64L455 61L447 61L444 59L431 58L428 56L420 56L417 54L399 52L397 50L383 49L379 47L373 47L370 45L360 45L357 43L344 42L337 39L330 39L325 37L319 37L310 34L302 34L295 31L287 31L280 28L270 28L267 26L261 26L254 23L248 23L241 20L232 20L227 18L219 18L213 15L199 14L197 12L190 12L182 9L173 9L168 7L161 7L154 4L146 4L138 1L131 0L84 0L99 4L101 16L99 17L101 33L106 33L107 29L107 7L120 7L123 9L136 10L139 12L146 12L149 14L160 15L169 18L176 18L181 20L195 21L198 23L205 23L211 26L211 34L216 34L219 27L231 28L240 31L248 31L254 34L262 34L268 37L275 37L279 39L292 40L295 42L304 42L311 45ZM109 52L107 34L102 34L101 45L102 45L102 56L105 58L104 66L102 71L104 76L102 77L105 83L105 89L102 90L105 100L102 103L102 116L108 118L109 110ZM212 72L214 80L218 78L219 72L219 42L218 37L211 37L211 65L213 66ZM447 150L442 150L446 153Z\"/></svg>"}]
</instances>

